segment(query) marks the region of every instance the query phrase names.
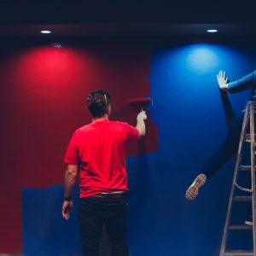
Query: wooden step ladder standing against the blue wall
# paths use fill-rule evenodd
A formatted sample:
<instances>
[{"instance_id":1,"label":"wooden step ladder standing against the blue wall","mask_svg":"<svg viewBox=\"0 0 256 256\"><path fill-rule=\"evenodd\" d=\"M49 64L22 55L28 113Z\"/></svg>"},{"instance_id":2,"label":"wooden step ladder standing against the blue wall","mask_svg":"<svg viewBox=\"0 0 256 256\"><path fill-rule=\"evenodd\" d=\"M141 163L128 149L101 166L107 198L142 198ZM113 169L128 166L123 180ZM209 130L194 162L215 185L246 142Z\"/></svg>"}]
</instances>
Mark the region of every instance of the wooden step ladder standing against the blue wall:
<instances>
[{"instance_id":1,"label":"wooden step ladder standing against the blue wall","mask_svg":"<svg viewBox=\"0 0 256 256\"><path fill-rule=\"evenodd\" d=\"M244 119L241 126L241 137L237 152L236 158L236 167L235 173L233 177L233 182L230 191L230 201L227 210L227 216L224 224L224 232L223 238L220 247L219 256L256 256L256 189L255 189L255 133L254 133L254 106L256 106L256 101L247 102L247 107L245 109ZM247 134L249 131L249 134ZM244 143L250 143L250 165L249 166L241 166L241 158L242 158L242 149ZM251 172L251 188L243 188L241 187L238 182L238 172L241 171L250 171ZM237 196L235 192L237 189L241 189L242 191L249 192L246 196ZM252 202L252 209L253 209L253 225L234 225L230 224L231 212L232 212L232 204L233 202ZM230 232L234 232L234 230L252 230L253 236L253 251L242 251L242 250L230 250L226 248L227 238ZM240 231L242 232L242 231ZM242 234L242 233L241 233Z\"/></svg>"}]
</instances>

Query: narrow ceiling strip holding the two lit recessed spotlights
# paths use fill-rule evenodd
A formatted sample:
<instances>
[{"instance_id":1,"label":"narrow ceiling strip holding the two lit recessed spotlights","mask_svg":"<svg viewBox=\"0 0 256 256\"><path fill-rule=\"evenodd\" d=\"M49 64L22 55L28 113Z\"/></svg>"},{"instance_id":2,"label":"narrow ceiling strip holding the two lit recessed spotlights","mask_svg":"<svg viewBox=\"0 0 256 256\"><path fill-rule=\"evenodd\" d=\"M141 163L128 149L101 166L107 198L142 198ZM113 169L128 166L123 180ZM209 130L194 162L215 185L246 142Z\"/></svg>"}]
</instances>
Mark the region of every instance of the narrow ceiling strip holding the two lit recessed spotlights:
<instances>
[{"instance_id":1,"label":"narrow ceiling strip holding the two lit recessed spotlights","mask_svg":"<svg viewBox=\"0 0 256 256\"><path fill-rule=\"evenodd\" d=\"M207 33L207 29L218 33ZM50 34L41 34L49 30ZM91 23L73 25L2 25L1 38L96 38L150 36L256 36L254 24L166 24L166 23Z\"/></svg>"}]
</instances>

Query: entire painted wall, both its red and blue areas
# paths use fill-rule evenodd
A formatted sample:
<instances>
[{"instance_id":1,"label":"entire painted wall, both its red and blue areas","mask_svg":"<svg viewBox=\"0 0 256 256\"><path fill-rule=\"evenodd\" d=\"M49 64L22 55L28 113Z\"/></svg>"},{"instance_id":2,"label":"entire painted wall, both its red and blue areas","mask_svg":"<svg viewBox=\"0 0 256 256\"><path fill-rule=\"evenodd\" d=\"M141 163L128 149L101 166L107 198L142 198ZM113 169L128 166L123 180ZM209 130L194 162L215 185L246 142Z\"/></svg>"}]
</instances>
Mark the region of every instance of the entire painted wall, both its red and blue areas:
<instances>
[{"instance_id":1,"label":"entire painted wall, both its red and blue areas","mask_svg":"<svg viewBox=\"0 0 256 256\"><path fill-rule=\"evenodd\" d=\"M73 131L90 122L86 95L101 87L113 96L113 119L131 124L139 109L127 100L153 99L148 136L129 148L131 255L218 255L233 162L196 201L185 201L184 194L224 138L226 104L238 114L249 97L245 91L223 99L218 70L233 80L256 65L253 40L209 41L2 43L0 252L78 255L76 216L61 218L62 160Z\"/></svg>"}]
</instances>

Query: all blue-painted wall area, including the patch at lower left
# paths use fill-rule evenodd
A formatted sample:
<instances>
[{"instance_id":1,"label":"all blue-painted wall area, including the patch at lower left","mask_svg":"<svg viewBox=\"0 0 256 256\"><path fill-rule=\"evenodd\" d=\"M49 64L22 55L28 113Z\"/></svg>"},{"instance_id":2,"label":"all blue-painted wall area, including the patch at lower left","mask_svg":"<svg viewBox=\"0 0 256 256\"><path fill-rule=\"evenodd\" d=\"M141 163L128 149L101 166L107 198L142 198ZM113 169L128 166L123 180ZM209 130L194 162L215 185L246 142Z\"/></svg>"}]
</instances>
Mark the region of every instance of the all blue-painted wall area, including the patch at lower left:
<instances>
[{"instance_id":1,"label":"all blue-painted wall area, including the patch at lower left","mask_svg":"<svg viewBox=\"0 0 256 256\"><path fill-rule=\"evenodd\" d=\"M252 40L239 44L227 39L214 44L155 42L148 78L154 105L149 113L159 125L159 151L128 159L128 241L132 256L218 255L234 160L207 182L196 201L185 201L184 195L228 129L216 74L224 69L230 80L239 79L256 68L255 56ZM236 114L249 96L249 91L229 95ZM61 220L60 189L38 190L38 194L34 189L24 191L26 255L35 255L40 247L49 256L79 252L76 217L68 227ZM49 194L56 195L55 202L44 212L38 200L49 198ZM44 234L41 218L48 227ZM66 237L64 232L69 233L68 242L61 239Z\"/></svg>"}]
</instances>

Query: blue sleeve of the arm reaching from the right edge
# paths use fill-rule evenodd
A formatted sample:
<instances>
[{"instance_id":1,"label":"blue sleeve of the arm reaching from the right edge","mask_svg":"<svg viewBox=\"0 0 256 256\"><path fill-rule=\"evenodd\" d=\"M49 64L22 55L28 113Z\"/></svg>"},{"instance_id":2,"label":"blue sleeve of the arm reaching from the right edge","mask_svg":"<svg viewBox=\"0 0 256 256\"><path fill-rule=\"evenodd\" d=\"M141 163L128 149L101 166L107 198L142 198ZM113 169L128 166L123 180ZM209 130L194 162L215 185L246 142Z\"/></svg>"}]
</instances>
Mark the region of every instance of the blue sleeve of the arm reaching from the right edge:
<instances>
[{"instance_id":1,"label":"blue sleeve of the arm reaching from the right edge","mask_svg":"<svg viewBox=\"0 0 256 256\"><path fill-rule=\"evenodd\" d=\"M228 84L228 89L230 93L240 92L242 90L253 89L256 83L256 70L252 73L247 74L245 77L236 80L235 82L230 82Z\"/></svg>"}]
</instances>

